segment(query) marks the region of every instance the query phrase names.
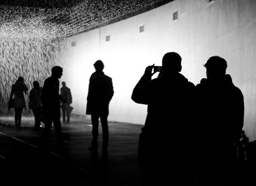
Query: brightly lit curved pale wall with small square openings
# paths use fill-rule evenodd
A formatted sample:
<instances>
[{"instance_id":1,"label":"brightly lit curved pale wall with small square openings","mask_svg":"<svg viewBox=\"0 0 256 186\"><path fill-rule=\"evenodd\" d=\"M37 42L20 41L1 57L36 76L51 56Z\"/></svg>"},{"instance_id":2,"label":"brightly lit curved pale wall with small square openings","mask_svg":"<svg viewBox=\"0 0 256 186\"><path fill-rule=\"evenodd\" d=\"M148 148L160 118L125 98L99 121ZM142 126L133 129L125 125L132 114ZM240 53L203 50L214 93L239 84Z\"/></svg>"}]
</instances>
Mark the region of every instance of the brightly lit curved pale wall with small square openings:
<instances>
[{"instance_id":1,"label":"brightly lit curved pale wall with small square openings","mask_svg":"<svg viewBox=\"0 0 256 186\"><path fill-rule=\"evenodd\" d=\"M203 64L219 55L227 60L227 73L244 94L244 130L250 140L256 139L255 10L254 0L177 0L69 38L62 79L73 91L74 113L85 114L96 60L105 63L105 74L113 78L109 120L143 124L147 107L133 103L131 94L146 66L161 65L166 52L178 52L182 74L197 84L205 77ZM173 20L177 11L178 20ZM142 33L140 26L145 29ZM71 47L71 42L76 46Z\"/></svg>"}]
</instances>

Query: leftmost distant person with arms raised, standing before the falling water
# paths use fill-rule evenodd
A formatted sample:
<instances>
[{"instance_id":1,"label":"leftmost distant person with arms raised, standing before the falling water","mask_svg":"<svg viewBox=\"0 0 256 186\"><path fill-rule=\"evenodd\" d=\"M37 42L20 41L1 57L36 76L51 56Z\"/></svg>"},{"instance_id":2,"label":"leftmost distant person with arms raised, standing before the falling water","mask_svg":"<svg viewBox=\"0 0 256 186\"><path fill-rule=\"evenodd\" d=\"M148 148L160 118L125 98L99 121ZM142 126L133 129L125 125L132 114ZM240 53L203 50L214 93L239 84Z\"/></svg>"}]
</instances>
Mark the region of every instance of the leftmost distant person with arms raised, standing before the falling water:
<instances>
[{"instance_id":1,"label":"leftmost distant person with arms raised, standing before the falling water","mask_svg":"<svg viewBox=\"0 0 256 186\"><path fill-rule=\"evenodd\" d=\"M26 108L24 92L27 94L28 88L24 82L24 78L19 77L15 84L12 85L10 99L14 96L14 111L15 111L15 127L20 129L21 115L23 108Z\"/></svg>"}]
</instances>

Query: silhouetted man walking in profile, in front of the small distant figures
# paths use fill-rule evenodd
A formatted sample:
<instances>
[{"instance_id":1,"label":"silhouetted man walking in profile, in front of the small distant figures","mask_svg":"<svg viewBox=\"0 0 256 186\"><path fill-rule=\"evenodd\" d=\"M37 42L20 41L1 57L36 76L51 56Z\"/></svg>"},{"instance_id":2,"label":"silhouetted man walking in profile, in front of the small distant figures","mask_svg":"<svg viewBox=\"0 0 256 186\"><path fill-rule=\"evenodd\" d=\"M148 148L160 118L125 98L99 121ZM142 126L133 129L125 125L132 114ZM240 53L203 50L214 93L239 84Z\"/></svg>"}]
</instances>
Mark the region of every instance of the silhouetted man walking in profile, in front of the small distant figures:
<instances>
[{"instance_id":1,"label":"silhouetted man walking in profile, in front of the small distant figures","mask_svg":"<svg viewBox=\"0 0 256 186\"><path fill-rule=\"evenodd\" d=\"M43 148L47 145L47 140L51 134L52 122L55 128L55 135L57 143L60 148L63 148L63 139L60 123L60 100L66 102L59 95L60 79L62 76L62 67L52 67L52 75L44 81L44 86L41 94L41 101L43 105L43 121L44 130L42 133L42 146Z\"/></svg>"}]
</instances>

